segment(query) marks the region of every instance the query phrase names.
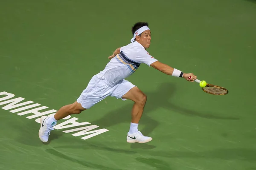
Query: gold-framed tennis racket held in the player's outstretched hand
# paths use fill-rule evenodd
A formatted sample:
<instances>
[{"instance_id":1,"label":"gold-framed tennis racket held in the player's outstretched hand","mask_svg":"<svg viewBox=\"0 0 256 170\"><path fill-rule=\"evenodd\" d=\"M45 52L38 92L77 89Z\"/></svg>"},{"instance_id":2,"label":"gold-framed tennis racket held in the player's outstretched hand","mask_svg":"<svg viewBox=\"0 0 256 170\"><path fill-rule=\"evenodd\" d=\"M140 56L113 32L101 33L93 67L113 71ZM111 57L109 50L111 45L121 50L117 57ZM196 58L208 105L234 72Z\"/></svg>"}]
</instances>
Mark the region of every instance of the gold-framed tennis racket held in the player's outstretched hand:
<instances>
[{"instance_id":1,"label":"gold-framed tennis racket held in the player's outstretched hand","mask_svg":"<svg viewBox=\"0 0 256 170\"><path fill-rule=\"evenodd\" d=\"M189 77L191 79L191 77ZM201 81L199 79L194 80L197 83L200 83ZM202 90L208 94L213 94L213 95L226 95L228 94L228 90L224 87L218 86L218 85L212 85L208 84L202 88Z\"/></svg>"}]
</instances>

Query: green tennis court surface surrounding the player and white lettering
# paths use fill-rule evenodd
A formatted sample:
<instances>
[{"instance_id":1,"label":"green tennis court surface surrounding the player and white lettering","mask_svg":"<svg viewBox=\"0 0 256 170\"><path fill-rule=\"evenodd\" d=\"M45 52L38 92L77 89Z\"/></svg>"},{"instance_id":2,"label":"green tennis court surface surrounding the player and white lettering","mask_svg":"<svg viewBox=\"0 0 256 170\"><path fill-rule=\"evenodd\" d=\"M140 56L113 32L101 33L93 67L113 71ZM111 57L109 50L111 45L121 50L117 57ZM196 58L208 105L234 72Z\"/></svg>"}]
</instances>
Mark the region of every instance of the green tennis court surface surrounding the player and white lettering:
<instances>
[{"instance_id":1,"label":"green tennis court surface surrounding the player and white lettering","mask_svg":"<svg viewBox=\"0 0 256 170\"><path fill-rule=\"evenodd\" d=\"M128 80L148 96L147 144L126 142L131 101L75 115L108 132L84 141L54 130L47 144L35 119L0 109L1 170L256 170L255 0L2 0L0 92L56 110L76 101L138 21L156 59L230 93L141 65Z\"/></svg>"}]
</instances>

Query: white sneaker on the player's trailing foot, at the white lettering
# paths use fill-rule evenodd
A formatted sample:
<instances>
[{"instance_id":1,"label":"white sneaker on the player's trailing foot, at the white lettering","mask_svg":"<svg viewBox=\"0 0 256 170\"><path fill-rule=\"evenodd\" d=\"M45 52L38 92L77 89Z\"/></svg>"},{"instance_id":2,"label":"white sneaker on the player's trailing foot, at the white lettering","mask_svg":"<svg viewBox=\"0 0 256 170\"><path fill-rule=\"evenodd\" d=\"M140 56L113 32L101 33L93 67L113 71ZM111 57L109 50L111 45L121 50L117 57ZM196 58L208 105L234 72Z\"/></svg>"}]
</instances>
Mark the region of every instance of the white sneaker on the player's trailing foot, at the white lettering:
<instances>
[{"instance_id":1,"label":"white sneaker on the player's trailing foot, at the white lettering","mask_svg":"<svg viewBox=\"0 0 256 170\"><path fill-rule=\"evenodd\" d=\"M42 142L48 142L49 135L53 127L49 127L46 120L49 119L48 116L42 116L40 119L40 130L38 132L39 138Z\"/></svg>"}]
</instances>

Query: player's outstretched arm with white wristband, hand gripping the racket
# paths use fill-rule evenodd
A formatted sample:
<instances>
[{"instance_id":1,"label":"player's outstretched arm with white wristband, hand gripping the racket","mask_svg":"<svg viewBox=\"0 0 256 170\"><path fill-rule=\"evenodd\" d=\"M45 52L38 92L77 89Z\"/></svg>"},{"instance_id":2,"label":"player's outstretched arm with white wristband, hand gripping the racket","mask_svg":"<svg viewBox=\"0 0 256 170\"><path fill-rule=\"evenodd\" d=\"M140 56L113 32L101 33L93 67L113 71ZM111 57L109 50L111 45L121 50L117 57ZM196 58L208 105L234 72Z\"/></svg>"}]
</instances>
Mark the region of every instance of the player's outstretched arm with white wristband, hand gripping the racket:
<instances>
[{"instance_id":1,"label":"player's outstretched arm with white wristband, hand gripping the racket","mask_svg":"<svg viewBox=\"0 0 256 170\"><path fill-rule=\"evenodd\" d=\"M174 75L175 68L172 68L169 65L163 64L162 62L156 61L153 62L151 67L163 72L164 74L170 75L170 76L176 76L176 77L183 77L184 79L193 82L197 77L192 73L183 73L183 75ZM176 73L175 73L176 74ZM181 72L182 74L182 72ZM191 76L191 79L189 77Z\"/></svg>"}]
</instances>

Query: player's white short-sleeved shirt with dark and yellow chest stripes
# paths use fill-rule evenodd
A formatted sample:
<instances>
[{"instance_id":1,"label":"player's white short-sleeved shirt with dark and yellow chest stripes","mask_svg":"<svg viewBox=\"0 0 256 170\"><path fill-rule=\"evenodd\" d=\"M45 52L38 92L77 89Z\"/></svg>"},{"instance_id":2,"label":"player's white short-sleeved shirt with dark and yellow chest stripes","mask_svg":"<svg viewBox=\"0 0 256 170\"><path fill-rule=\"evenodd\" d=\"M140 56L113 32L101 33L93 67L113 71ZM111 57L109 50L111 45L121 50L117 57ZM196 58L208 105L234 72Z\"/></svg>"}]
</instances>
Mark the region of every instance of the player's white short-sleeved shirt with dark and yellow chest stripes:
<instances>
[{"instance_id":1,"label":"player's white short-sleeved shirt with dark and yellow chest stripes","mask_svg":"<svg viewBox=\"0 0 256 170\"><path fill-rule=\"evenodd\" d=\"M97 74L97 77L103 79L108 85L114 86L133 74L139 68L140 63L150 66L156 61L157 59L154 59L139 42L134 41L121 47L120 54L111 59L105 69Z\"/></svg>"}]
</instances>

